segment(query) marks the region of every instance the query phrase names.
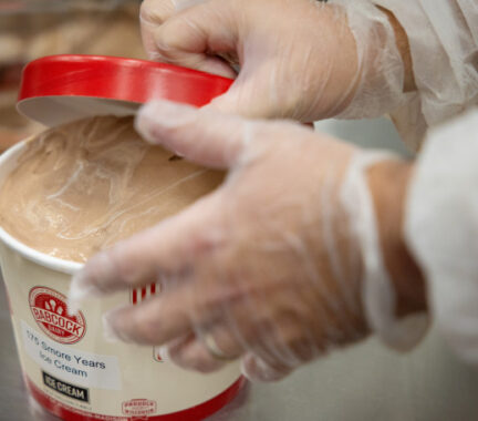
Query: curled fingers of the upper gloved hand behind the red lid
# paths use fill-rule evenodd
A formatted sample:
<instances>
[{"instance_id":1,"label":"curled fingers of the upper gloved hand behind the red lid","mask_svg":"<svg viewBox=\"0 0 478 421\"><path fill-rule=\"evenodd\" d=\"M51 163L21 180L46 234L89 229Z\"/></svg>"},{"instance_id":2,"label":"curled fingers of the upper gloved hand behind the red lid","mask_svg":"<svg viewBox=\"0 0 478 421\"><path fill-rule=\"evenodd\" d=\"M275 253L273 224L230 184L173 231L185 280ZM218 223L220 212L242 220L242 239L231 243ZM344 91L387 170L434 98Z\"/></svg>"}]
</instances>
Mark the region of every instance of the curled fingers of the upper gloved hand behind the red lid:
<instances>
[{"instance_id":1,"label":"curled fingers of the upper gloved hand behind the red lid","mask_svg":"<svg viewBox=\"0 0 478 421\"><path fill-rule=\"evenodd\" d=\"M188 1L187 4L187 8L175 8L169 3L159 11L158 4L150 1L149 6L143 6L142 33L149 58L235 78L231 64L215 55L236 52L237 25L229 2Z\"/></svg>"}]
</instances>

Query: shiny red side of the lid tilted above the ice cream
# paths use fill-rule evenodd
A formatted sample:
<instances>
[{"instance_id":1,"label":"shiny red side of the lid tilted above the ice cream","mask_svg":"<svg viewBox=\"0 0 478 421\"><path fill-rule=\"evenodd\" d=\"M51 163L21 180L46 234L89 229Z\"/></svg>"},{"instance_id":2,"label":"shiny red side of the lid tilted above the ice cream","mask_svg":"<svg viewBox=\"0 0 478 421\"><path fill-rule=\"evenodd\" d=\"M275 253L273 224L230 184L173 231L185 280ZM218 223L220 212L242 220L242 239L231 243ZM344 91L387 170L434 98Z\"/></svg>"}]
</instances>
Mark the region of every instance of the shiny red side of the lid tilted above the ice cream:
<instances>
[{"instance_id":1,"label":"shiny red side of the lid tilted above the ice cream","mask_svg":"<svg viewBox=\"0 0 478 421\"><path fill-rule=\"evenodd\" d=\"M92 96L134 103L154 99L202 106L225 93L227 78L145 60L105 55L51 55L30 62L19 101L39 96Z\"/></svg>"}]
</instances>

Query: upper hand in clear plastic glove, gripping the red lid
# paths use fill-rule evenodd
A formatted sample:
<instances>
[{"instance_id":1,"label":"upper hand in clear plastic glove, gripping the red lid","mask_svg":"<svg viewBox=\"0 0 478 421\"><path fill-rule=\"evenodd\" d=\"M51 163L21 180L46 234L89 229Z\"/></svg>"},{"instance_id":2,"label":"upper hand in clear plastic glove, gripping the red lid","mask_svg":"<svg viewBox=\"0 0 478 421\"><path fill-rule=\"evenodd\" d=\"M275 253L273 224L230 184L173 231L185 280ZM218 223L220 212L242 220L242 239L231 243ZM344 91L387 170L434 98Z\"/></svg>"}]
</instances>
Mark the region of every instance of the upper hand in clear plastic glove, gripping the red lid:
<instances>
[{"instance_id":1,"label":"upper hand in clear plastic glove, gripping the red lid","mask_svg":"<svg viewBox=\"0 0 478 421\"><path fill-rule=\"evenodd\" d=\"M402 103L389 19L362 0L146 0L141 13L150 59L228 78L240 66L211 106L301 122L377 116Z\"/></svg>"}]
</instances>

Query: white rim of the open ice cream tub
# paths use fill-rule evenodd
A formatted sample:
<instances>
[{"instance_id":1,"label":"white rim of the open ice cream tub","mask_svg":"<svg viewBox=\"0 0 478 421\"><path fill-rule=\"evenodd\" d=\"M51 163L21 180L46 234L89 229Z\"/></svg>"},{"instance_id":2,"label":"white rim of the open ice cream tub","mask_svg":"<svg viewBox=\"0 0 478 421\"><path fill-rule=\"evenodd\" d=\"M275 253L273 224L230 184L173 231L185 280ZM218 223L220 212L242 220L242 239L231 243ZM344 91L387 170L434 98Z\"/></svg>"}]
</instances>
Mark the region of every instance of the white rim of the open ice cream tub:
<instances>
[{"instance_id":1,"label":"white rim of the open ice cream tub","mask_svg":"<svg viewBox=\"0 0 478 421\"><path fill-rule=\"evenodd\" d=\"M28 140L21 141L15 145L13 145L12 147L8 148L6 152L3 152L0 155L0 167L2 165L6 165L6 163L9 162L10 160L14 158L17 154L19 154L24 148ZM0 189L2 187L1 184L2 181L0 181ZM0 240L11 249L17 251L18 254L20 254L22 257L27 258L28 260L31 260L40 266L43 266L52 270L61 271L67 275L74 275L84 266L84 264L82 263L64 260L38 251L34 248L24 245L23 243L21 243L20 240L11 236L1 226L0 226Z\"/></svg>"}]
</instances>

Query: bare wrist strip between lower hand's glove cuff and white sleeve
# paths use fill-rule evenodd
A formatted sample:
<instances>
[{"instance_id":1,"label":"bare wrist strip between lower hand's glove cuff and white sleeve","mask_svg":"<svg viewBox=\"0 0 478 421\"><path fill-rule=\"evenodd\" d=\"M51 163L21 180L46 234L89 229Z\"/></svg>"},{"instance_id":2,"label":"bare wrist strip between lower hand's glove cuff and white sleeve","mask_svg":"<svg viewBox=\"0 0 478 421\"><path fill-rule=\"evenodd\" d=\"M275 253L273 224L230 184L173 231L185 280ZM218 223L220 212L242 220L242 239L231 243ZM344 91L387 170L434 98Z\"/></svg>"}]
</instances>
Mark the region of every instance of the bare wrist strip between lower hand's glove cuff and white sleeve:
<instances>
[{"instance_id":1,"label":"bare wrist strip between lower hand's glove cuff and white sleeve","mask_svg":"<svg viewBox=\"0 0 478 421\"><path fill-rule=\"evenodd\" d=\"M397 317L427 309L425 280L406 246L403 229L413 170L408 162L386 161L367 171L383 260L395 288Z\"/></svg>"}]
</instances>

